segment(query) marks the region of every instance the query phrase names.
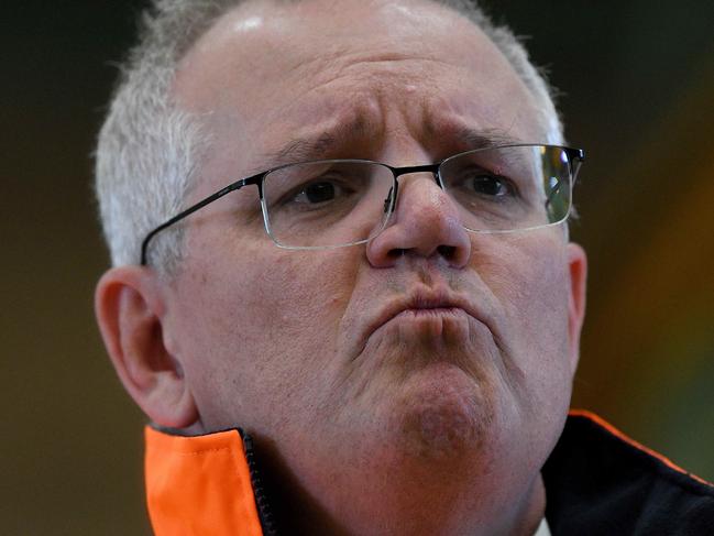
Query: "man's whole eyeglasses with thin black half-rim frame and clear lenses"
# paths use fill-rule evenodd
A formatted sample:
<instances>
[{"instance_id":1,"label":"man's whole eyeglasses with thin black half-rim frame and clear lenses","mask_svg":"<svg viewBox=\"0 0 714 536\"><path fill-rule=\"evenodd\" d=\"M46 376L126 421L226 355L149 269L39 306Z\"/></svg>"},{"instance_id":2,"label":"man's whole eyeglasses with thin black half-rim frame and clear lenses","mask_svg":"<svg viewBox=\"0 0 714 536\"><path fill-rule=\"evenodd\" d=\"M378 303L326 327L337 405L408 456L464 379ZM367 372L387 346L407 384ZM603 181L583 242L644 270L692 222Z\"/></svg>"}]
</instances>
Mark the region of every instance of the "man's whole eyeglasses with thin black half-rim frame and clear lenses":
<instances>
[{"instance_id":1,"label":"man's whole eyeglasses with thin black half-rim frame and clear lenses","mask_svg":"<svg viewBox=\"0 0 714 536\"><path fill-rule=\"evenodd\" d=\"M392 167L369 160L287 164L241 178L165 221L141 244L215 200L255 185L270 238L279 248L319 250L365 243L389 221L398 177L429 173L471 232L540 229L564 221L585 158L581 149L514 144L477 149L436 164Z\"/></svg>"}]
</instances>

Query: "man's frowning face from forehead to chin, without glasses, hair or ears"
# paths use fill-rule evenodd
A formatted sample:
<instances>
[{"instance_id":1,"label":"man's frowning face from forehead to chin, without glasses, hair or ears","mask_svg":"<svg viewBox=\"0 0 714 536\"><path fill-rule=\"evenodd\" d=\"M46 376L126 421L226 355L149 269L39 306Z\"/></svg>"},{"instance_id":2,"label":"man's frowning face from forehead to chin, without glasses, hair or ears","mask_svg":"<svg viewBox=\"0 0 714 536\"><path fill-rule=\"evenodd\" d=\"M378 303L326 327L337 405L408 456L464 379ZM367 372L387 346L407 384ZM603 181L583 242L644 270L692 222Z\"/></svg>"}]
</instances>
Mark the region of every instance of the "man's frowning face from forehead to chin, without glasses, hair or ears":
<instances>
[{"instance_id":1,"label":"man's frowning face from forehead to chin, without glasses, hair or ears","mask_svg":"<svg viewBox=\"0 0 714 536\"><path fill-rule=\"evenodd\" d=\"M284 160L400 166L470 149L464 129L546 140L490 41L428 3L250 2L189 52L176 95L212 140L189 203L283 163L266 155L296 141L320 143ZM185 247L164 329L201 424L244 427L297 485L458 453L508 489L550 452L579 329L580 250L561 227L468 233L415 174L366 247L277 248L254 187L191 217Z\"/></svg>"}]
</instances>

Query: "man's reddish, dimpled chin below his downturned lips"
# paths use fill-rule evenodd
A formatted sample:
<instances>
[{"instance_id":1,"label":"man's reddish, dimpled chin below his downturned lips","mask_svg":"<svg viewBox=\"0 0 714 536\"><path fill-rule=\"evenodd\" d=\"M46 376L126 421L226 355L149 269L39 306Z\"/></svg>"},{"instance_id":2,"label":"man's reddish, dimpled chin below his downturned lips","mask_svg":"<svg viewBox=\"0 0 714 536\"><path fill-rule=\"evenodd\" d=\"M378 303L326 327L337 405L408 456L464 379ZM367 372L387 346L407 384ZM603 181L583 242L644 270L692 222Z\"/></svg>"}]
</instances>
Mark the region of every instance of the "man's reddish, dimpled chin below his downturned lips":
<instances>
[{"instance_id":1,"label":"man's reddish, dimpled chin below his downturned lips","mask_svg":"<svg viewBox=\"0 0 714 536\"><path fill-rule=\"evenodd\" d=\"M459 317L437 331L430 320L391 322L361 355L373 446L399 463L485 471L513 423L504 358L482 324Z\"/></svg>"}]
</instances>

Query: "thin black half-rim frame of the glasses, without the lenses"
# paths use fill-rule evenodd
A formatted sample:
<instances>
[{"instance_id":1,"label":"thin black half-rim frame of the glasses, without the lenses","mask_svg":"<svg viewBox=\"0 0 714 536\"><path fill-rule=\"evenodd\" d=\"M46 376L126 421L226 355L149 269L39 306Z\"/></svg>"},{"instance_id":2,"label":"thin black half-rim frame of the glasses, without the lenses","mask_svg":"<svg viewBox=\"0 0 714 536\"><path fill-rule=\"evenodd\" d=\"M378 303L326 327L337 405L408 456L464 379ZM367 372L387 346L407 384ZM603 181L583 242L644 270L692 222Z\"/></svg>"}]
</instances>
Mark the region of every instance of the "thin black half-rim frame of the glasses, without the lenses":
<instances>
[{"instance_id":1,"label":"thin black half-rim frame of the glasses, without the lenses","mask_svg":"<svg viewBox=\"0 0 714 536\"><path fill-rule=\"evenodd\" d=\"M275 237L271 232L270 228L270 219L267 217L267 207L265 206L265 196L263 195L263 182L265 181L265 177L270 175L273 172L276 172L278 169L283 169L285 167L290 167L297 164L320 164L320 163L331 163L331 162L345 162L345 163L369 163L369 164L376 164L381 165L383 167L386 167L392 172L392 176L394 179L394 184L392 187L392 194L389 198L385 199L384 203L384 211L385 211L385 223L388 221L389 217L392 216L392 212L394 211L394 208L396 207L396 200L397 200L397 194L399 189L399 182L398 177L402 175L408 175L411 173L431 173L433 175L433 179L437 183L437 185L441 188L444 189L443 184L441 182L441 175L440 175L440 169L441 166L446 163L449 162L453 158L460 157L464 154L472 154L472 153L477 153L480 151L493 151L497 149L508 149L508 147L546 147L546 149L560 149L565 152L568 155L568 165L570 167L570 187L572 187L575 184L575 179L578 177L578 172L580 171L580 166L582 163L585 161L585 151L582 149L575 149L575 147L569 147L569 146L563 146L563 145L549 145L549 144L542 144L542 143L512 143L512 144L505 144L505 145L493 145L493 146L487 146L487 147L482 147L482 149L474 149L471 151L463 151L457 154L453 154L447 158L443 158L437 163L433 164L424 164L424 165L416 165L416 166L402 166L402 167L394 167L388 164L384 164L382 162L375 162L372 160L365 160L365 158L331 158L331 160L316 160L316 161L308 161L308 162L294 162L290 164L283 164L279 166L271 167L267 171L257 173L255 175L251 175L250 177L241 178L239 181L235 181L228 186L224 186L223 188L219 189L218 192L211 194L210 196L201 199L200 201L196 203L195 205L191 205L185 210L182 210L178 212L176 216L169 218L168 220L164 221L162 225L158 227L154 228L151 232L146 234L144 240L141 243L141 265L146 266L147 263L147 250L149 250L149 243L151 240L158 234L161 231L164 229L173 226L174 223L177 223L178 221L183 220L187 216L190 216L191 214L196 212L197 210L204 208L207 205L210 205L217 199L220 199L221 197L226 196L227 194L230 194L231 192L235 192L241 189L244 186L250 186L250 185L255 185L257 186L257 195L261 203L261 210L263 212L263 225L265 228L265 232L268 234L271 240L277 245L278 248L283 249L288 249L288 250L325 250L325 249L333 249L333 248L345 248L349 245L358 245L361 243L365 243L370 241L373 237L364 239L364 240L359 240L356 242L351 242L347 244L339 244L339 245L306 245L306 247L294 247L294 245L283 245L277 240L275 240ZM553 190L553 193L557 190ZM571 194L572 195L572 194ZM551 195L552 197L552 195ZM550 203L551 197L549 197L546 203ZM570 216L570 211L572 209L572 199L570 203L570 206L568 207L568 214L559 221L552 221L550 223L546 223L542 226L537 226L537 227L530 227L527 229L508 229L508 230L474 230L474 229L468 229L469 232L481 232L481 233L494 233L494 232L515 232L515 231L526 231L526 230L532 230L532 229L540 229L543 227L550 227L554 226L558 223L561 223L568 219ZM378 234L378 233L377 233Z\"/></svg>"}]
</instances>

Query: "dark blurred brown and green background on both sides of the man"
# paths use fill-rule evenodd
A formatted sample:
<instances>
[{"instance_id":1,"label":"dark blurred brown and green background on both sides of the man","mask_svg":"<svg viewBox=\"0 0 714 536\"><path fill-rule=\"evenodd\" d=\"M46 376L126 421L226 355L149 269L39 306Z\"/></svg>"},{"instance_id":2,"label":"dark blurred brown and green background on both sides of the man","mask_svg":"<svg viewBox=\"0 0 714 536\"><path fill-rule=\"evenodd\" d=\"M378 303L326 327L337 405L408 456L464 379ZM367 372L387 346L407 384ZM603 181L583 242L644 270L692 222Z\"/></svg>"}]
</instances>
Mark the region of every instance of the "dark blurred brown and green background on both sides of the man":
<instances>
[{"instance_id":1,"label":"dark blurred brown and green background on both sides of the man","mask_svg":"<svg viewBox=\"0 0 714 536\"><path fill-rule=\"evenodd\" d=\"M141 1L8 2L0 21L0 527L149 534L140 412L95 327L108 258L91 152ZM714 480L714 2L488 1L587 151L573 405ZM655 7L656 6L656 7Z\"/></svg>"}]
</instances>

